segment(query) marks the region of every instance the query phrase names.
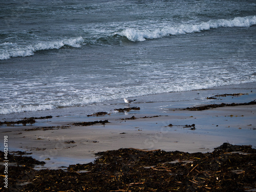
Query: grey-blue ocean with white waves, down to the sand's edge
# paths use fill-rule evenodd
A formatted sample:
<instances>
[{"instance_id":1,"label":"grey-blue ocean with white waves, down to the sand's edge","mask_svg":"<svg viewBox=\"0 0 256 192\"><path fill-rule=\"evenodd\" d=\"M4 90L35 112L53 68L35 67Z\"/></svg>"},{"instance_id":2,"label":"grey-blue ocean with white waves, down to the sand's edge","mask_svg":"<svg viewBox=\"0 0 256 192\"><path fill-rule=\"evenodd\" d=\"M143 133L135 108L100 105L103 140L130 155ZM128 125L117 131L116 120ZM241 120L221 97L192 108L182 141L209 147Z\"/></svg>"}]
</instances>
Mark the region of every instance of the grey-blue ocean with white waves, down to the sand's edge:
<instances>
[{"instance_id":1,"label":"grey-blue ocean with white waves, down to the sand's edge","mask_svg":"<svg viewBox=\"0 0 256 192\"><path fill-rule=\"evenodd\" d=\"M255 82L255 50L254 0L1 1L0 115Z\"/></svg>"}]
</instances>

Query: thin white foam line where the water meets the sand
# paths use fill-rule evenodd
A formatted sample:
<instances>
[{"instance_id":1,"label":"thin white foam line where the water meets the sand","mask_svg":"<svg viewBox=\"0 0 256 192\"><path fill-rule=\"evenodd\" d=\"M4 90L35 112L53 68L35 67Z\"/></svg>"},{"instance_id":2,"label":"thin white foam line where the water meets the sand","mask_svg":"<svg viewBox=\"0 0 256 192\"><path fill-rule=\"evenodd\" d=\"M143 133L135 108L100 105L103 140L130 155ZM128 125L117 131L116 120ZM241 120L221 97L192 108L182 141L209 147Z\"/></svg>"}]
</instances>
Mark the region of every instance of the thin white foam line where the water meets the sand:
<instances>
[{"instance_id":1,"label":"thin white foam line where the water meets the sand","mask_svg":"<svg viewBox=\"0 0 256 192\"><path fill-rule=\"evenodd\" d=\"M256 78L248 79L248 80L231 80L231 81L222 81L222 80L208 80L208 82L195 82L191 84L191 82L183 83L182 86L180 84L174 84L173 86L166 85L163 88L152 89L152 88L138 88L134 90L134 88L130 88L133 91L125 91L120 92L117 90L115 93L112 91L112 95L105 93L108 91L101 92L100 94L84 94L81 98L73 98L72 100L66 100L66 98L60 98L61 102L50 101L52 104L30 104L30 105L5 105L0 106L0 114L11 114L11 113L24 113L24 112L35 112L35 111L46 111L53 110L59 107L68 107L68 106L81 106L88 105L92 103L100 103L109 100L121 99L121 98L138 98L145 95L153 95L153 94L162 94L169 92L184 92L184 91L193 91L193 90L202 90L202 89L210 89L219 86L229 86L232 84L244 84L256 82ZM109 91L110 93L110 91Z\"/></svg>"}]
</instances>

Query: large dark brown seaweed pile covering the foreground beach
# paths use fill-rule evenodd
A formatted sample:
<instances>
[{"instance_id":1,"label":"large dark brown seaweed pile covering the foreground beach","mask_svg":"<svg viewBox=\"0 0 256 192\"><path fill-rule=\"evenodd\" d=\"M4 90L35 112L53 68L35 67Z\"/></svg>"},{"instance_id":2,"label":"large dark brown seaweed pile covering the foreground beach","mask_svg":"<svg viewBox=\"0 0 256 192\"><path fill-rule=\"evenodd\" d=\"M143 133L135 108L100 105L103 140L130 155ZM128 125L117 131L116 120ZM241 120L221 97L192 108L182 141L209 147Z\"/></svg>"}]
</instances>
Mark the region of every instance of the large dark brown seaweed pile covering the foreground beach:
<instances>
[{"instance_id":1,"label":"large dark brown seaweed pile covering the foreground beach","mask_svg":"<svg viewBox=\"0 0 256 192\"><path fill-rule=\"evenodd\" d=\"M16 170L9 176L10 191L246 191L256 188L256 150L250 145L223 143L206 154L120 148L96 155L94 163L70 165L67 171L12 166L10 169ZM27 183L20 178L27 178ZM2 183L1 187L8 191Z\"/></svg>"}]
</instances>

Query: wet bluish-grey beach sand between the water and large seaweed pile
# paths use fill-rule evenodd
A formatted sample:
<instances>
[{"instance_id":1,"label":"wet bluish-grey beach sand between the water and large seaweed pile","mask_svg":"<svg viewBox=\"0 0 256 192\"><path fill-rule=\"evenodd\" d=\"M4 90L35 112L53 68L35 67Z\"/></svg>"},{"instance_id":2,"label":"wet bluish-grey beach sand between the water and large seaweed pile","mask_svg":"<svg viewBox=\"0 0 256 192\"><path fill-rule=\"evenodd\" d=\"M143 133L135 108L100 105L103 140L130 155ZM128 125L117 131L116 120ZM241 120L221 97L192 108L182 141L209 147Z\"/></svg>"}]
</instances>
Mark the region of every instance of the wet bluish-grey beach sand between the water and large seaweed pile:
<instances>
[{"instance_id":1,"label":"wet bluish-grey beach sand between the water and large seaweed pile","mask_svg":"<svg viewBox=\"0 0 256 192\"><path fill-rule=\"evenodd\" d=\"M220 96L214 100L196 98L198 95L206 98L216 93L228 92L244 95ZM193 99L179 103L169 101L175 94L176 96L189 94L189 98ZM82 109L86 106L81 106L76 110L80 110L79 113L82 115L77 115L78 113L74 116L56 115L52 119L38 119L33 125L2 126L1 137L8 136L10 152L26 151L32 153L30 156L33 158L46 162L43 167L38 168L58 168L70 164L88 163L95 159L94 154L97 152L119 148L206 153L212 152L214 147L224 142L252 145L256 148L256 105L225 106L204 111L184 110L186 107L209 103L250 102L255 99L255 95L255 84L243 90L221 88L160 94L137 98L137 102L130 106L123 103L115 105L111 102L97 105L94 112L108 108L108 114L90 117L87 117L86 112L82 114ZM161 102L152 102L154 97ZM122 108L138 106L140 110L130 112L114 110L120 106ZM133 116L136 119L126 119ZM90 126L73 125L77 122L100 120L108 120L109 123ZM188 126L193 124L195 125Z\"/></svg>"}]
</instances>

